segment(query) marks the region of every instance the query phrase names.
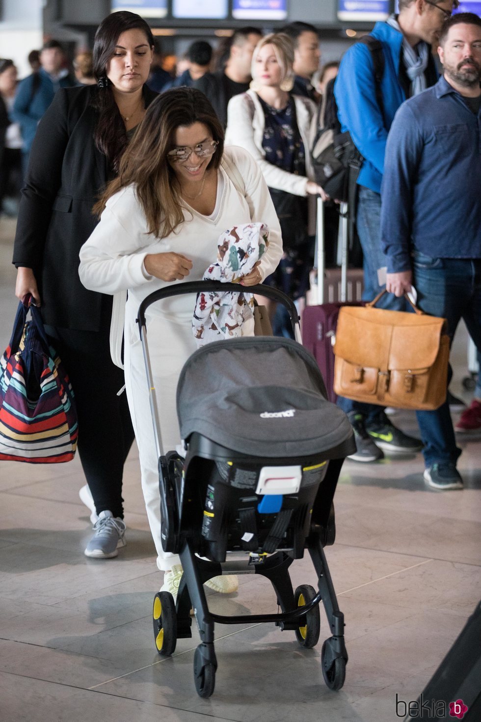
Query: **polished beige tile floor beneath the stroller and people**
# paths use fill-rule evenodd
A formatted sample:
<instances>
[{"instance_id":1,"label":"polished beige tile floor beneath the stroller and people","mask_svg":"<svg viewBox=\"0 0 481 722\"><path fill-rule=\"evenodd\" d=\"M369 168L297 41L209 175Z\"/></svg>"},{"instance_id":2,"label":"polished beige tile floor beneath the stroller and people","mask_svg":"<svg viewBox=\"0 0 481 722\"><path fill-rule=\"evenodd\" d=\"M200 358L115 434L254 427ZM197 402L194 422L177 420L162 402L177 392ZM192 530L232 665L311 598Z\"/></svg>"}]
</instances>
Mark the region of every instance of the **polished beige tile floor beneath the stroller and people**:
<instances>
[{"instance_id":1,"label":"polished beige tile floor beneath the stroller and people","mask_svg":"<svg viewBox=\"0 0 481 722\"><path fill-rule=\"evenodd\" d=\"M14 224L0 219L0 346L16 300ZM466 335L454 348L453 390L462 393ZM465 395L468 400L469 396ZM413 414L397 422L415 432ZM421 457L348 462L335 497L337 539L327 560L345 614L345 686L327 690L319 648L301 649L273 625L217 627L219 670L209 700L195 693L191 640L172 658L154 651L156 571L136 451L125 469L128 545L114 560L89 560L79 459L0 464L1 722L389 722L395 695L415 700L481 596L481 436L462 443L462 492L423 484ZM314 583L310 562L296 583ZM216 611L275 611L265 580L241 577ZM329 636L325 617L322 637ZM195 627L195 623L194 623Z\"/></svg>"}]
</instances>

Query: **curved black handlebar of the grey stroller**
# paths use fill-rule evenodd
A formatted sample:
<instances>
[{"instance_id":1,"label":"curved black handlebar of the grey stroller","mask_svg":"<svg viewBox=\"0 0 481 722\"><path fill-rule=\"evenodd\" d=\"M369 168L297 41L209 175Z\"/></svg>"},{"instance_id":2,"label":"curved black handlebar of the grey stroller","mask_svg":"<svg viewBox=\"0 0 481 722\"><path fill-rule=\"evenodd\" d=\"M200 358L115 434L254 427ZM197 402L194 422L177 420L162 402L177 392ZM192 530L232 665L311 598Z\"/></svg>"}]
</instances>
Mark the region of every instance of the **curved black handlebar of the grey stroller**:
<instances>
[{"instance_id":1,"label":"curved black handlebar of the grey stroller","mask_svg":"<svg viewBox=\"0 0 481 722\"><path fill-rule=\"evenodd\" d=\"M162 300L163 298L169 298L170 296L180 296L185 293L201 293L203 291L217 291L224 293L226 291L235 291L237 293L257 293L260 296L265 296L282 303L289 312L291 317L291 323L293 329L295 329L296 323L300 322L299 314L297 313L296 305L294 301L283 293L278 291L276 288L271 286L264 286L257 284L255 286L241 286L238 283L222 283L221 281L187 281L185 283L176 283L166 288L161 288L158 291L150 293L138 308L137 323L138 326L145 326L145 313L147 308L152 303Z\"/></svg>"}]
</instances>

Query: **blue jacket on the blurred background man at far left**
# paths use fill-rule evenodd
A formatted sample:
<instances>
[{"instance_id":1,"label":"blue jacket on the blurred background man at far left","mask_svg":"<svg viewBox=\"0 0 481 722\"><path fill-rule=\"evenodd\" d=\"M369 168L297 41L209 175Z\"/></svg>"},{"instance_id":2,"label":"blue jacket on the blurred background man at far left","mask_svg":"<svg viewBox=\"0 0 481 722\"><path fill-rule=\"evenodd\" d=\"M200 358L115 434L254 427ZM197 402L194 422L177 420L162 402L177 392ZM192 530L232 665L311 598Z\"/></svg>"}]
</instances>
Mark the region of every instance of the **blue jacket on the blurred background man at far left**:
<instances>
[{"instance_id":1,"label":"blue jacket on the blurred background man at far left","mask_svg":"<svg viewBox=\"0 0 481 722\"><path fill-rule=\"evenodd\" d=\"M71 75L65 75L53 83L50 75L43 68L40 68L37 89L32 97L34 75L32 73L32 75L19 82L12 110L13 120L20 125L23 139L22 150L25 153L30 151L37 131L38 121L40 121L45 110L52 102L58 88L74 87L74 85L78 84Z\"/></svg>"}]
</instances>

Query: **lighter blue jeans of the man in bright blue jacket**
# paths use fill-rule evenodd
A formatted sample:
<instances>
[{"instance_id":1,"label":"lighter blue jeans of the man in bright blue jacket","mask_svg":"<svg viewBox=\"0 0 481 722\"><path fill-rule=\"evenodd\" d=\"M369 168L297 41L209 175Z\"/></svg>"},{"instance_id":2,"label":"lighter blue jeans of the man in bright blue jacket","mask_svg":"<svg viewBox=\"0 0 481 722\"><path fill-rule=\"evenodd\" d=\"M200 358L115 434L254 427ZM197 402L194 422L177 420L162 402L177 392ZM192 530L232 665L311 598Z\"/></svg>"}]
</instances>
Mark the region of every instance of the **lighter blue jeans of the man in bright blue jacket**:
<instances>
[{"instance_id":1,"label":"lighter blue jeans of the man in bright blue jacket","mask_svg":"<svg viewBox=\"0 0 481 722\"><path fill-rule=\"evenodd\" d=\"M381 248L381 196L371 188L358 187L358 211L356 224L359 240L363 249L364 269L364 290L363 300L372 301L378 293L383 290L377 276L378 269L387 266L387 256ZM397 298L393 293L384 294L376 303L376 308L389 308L394 311L405 311L406 302L404 298ZM384 406L374 404L361 404L359 401L344 399L339 396L337 406L343 409L345 414L356 411L366 417L366 424L376 422L379 415L384 412Z\"/></svg>"}]
</instances>

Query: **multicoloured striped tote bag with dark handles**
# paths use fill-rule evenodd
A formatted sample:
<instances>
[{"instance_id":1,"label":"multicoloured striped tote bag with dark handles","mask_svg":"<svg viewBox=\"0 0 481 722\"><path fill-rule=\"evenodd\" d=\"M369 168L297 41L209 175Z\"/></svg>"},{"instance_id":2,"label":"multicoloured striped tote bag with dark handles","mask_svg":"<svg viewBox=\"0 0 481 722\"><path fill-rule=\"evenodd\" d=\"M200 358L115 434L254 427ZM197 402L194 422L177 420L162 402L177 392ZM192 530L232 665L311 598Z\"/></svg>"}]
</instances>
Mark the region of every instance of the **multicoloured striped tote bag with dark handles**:
<instances>
[{"instance_id":1,"label":"multicoloured striped tote bag with dark handles","mask_svg":"<svg viewBox=\"0 0 481 722\"><path fill-rule=\"evenodd\" d=\"M0 460L58 464L74 458L78 425L69 378L48 344L40 311L19 304L0 360Z\"/></svg>"}]
</instances>

